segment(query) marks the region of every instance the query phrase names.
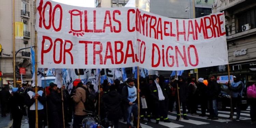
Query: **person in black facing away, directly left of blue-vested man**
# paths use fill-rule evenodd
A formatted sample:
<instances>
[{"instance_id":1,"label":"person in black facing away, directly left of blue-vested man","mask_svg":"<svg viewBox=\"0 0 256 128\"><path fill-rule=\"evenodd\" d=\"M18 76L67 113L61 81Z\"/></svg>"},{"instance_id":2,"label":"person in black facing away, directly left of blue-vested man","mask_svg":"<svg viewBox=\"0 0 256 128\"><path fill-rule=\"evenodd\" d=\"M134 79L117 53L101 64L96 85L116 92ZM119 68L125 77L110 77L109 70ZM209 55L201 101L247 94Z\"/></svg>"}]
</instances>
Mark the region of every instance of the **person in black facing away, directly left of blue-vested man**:
<instances>
[{"instance_id":1,"label":"person in black facing away, directly left of blue-vested man","mask_svg":"<svg viewBox=\"0 0 256 128\"><path fill-rule=\"evenodd\" d=\"M110 91L107 95L102 97L103 102L106 105L106 112L109 121L114 123L114 127L118 128L118 120L121 114L121 95L116 91L116 86L110 86Z\"/></svg>"}]
</instances>

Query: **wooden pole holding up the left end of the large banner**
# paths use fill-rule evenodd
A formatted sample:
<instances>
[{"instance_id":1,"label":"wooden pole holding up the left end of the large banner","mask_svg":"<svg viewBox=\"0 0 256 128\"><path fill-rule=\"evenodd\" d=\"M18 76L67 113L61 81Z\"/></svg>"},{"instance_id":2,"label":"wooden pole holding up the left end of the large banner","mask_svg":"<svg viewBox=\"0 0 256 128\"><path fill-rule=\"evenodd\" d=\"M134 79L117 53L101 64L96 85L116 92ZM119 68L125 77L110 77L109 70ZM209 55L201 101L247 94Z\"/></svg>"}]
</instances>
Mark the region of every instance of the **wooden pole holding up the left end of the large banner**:
<instances>
[{"instance_id":1,"label":"wooden pole holding up the left end of the large banner","mask_svg":"<svg viewBox=\"0 0 256 128\"><path fill-rule=\"evenodd\" d=\"M37 0L35 0L37 3ZM35 15L37 14L37 5L34 4L34 12ZM38 87L37 87L37 31L35 31L35 94L37 94ZM35 99L35 127L38 128L38 99Z\"/></svg>"}]
</instances>

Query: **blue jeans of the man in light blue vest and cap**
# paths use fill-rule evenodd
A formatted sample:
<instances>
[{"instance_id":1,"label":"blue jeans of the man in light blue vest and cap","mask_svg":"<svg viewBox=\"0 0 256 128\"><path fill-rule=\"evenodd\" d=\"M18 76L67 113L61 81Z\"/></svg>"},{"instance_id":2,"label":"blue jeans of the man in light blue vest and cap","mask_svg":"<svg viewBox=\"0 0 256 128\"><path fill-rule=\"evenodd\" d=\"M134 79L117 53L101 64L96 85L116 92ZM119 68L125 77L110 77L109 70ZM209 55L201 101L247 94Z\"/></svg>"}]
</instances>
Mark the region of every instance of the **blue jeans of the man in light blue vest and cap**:
<instances>
[{"instance_id":1,"label":"blue jeans of the man in light blue vest and cap","mask_svg":"<svg viewBox=\"0 0 256 128\"><path fill-rule=\"evenodd\" d=\"M127 126L131 126L131 113L133 115L133 125L137 126L138 123L138 103L127 106Z\"/></svg>"}]
</instances>

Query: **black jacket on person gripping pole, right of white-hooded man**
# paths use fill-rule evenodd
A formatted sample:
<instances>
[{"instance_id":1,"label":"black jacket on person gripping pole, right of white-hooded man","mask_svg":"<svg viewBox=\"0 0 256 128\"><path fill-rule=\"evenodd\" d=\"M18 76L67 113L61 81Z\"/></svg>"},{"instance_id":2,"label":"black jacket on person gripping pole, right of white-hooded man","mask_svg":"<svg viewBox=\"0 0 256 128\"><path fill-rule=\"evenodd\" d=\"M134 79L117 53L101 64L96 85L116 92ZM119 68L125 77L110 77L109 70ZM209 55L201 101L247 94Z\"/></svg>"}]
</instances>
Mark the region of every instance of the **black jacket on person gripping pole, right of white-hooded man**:
<instances>
[{"instance_id":1,"label":"black jacket on person gripping pole, right of white-hooded man","mask_svg":"<svg viewBox=\"0 0 256 128\"><path fill-rule=\"evenodd\" d=\"M173 82L173 87L174 88L177 88L177 84L179 86L179 96L180 96L180 102L184 102L184 101L187 101L188 99L188 86L185 82L180 82L180 81L177 81L175 80ZM175 92L175 101L178 101L178 89L176 89L176 92Z\"/></svg>"}]
</instances>

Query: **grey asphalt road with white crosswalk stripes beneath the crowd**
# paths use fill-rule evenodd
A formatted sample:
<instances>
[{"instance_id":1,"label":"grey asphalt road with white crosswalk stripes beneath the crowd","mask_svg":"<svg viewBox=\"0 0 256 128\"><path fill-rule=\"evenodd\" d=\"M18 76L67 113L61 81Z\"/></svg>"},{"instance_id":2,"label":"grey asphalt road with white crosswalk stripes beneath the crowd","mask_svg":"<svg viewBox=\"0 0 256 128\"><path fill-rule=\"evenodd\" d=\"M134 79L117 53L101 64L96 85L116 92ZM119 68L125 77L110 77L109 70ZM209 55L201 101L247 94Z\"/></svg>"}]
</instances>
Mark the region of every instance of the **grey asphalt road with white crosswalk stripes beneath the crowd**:
<instances>
[{"instance_id":1,"label":"grey asphalt road with white crosswalk stripes beneath the crowd","mask_svg":"<svg viewBox=\"0 0 256 128\"><path fill-rule=\"evenodd\" d=\"M200 113L200 111L197 111ZM160 122L159 124L155 124L155 120L152 119L152 123L148 123L147 120L143 120L141 122L142 128L256 128L256 124L251 124L250 119L250 107L241 112L240 121L232 121L229 120L229 112L230 109L226 109L225 111L218 111L219 119L218 120L209 120L207 117L200 117L198 115L192 116L188 114L189 120L179 120L176 121L176 113L168 114L168 118L171 119L171 123ZM209 113L207 113L209 115ZM236 119L236 113L234 113L234 119ZM72 125L72 123L70 123ZM1 126L0 126L1 127ZM28 128L28 118L26 116L23 117L22 120L22 128ZM72 128L66 127L66 128ZM123 119L119 120L119 128L126 128L126 122L123 122Z\"/></svg>"}]
</instances>

